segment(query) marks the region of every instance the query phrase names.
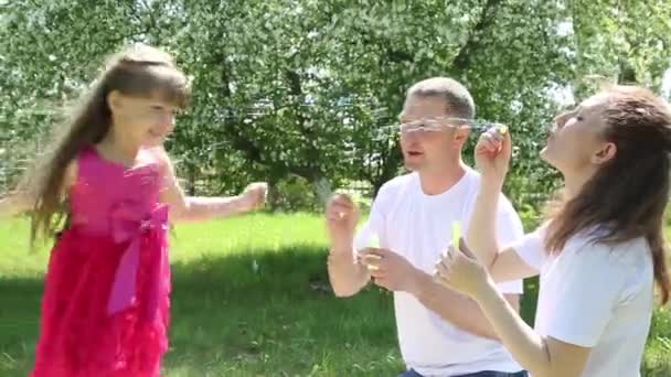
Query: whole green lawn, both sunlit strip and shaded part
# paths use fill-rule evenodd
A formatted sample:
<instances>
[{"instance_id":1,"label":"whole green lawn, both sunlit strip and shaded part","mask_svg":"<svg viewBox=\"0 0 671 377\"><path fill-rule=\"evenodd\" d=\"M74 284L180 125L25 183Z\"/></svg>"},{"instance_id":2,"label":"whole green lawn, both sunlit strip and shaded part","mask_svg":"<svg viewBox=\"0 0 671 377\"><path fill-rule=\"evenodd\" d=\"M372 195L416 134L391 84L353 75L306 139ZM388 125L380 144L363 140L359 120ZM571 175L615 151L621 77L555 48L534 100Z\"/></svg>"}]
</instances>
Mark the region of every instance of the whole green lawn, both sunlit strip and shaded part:
<instances>
[{"instance_id":1,"label":"whole green lawn, both sunlit strip and shaded part","mask_svg":"<svg viewBox=\"0 0 671 377\"><path fill-rule=\"evenodd\" d=\"M47 252L29 255L26 236L24 222L0 223L0 376L25 376L33 362ZM166 376L395 376L403 363L391 295L369 288L333 298L323 289L326 247L313 215L179 226ZM671 313L659 312L645 375L671 375L670 352Z\"/></svg>"}]
</instances>

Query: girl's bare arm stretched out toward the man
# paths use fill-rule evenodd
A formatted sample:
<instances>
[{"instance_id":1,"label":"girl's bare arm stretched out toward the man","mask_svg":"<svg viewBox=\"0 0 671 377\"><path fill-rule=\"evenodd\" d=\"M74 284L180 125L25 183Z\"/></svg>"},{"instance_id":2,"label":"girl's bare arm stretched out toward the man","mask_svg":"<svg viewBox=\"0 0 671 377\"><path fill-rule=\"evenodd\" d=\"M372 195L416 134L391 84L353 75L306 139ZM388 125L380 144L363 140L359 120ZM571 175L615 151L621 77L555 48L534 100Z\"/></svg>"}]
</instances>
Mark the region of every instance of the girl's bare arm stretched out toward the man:
<instances>
[{"instance_id":1,"label":"girl's bare arm stretched out toward the man","mask_svg":"<svg viewBox=\"0 0 671 377\"><path fill-rule=\"evenodd\" d=\"M173 222L200 222L232 216L259 208L265 203L267 185L252 183L241 195L230 197L187 196L182 190L174 166L168 154L157 149L155 155L160 161L163 188L161 202L170 205Z\"/></svg>"}]
</instances>

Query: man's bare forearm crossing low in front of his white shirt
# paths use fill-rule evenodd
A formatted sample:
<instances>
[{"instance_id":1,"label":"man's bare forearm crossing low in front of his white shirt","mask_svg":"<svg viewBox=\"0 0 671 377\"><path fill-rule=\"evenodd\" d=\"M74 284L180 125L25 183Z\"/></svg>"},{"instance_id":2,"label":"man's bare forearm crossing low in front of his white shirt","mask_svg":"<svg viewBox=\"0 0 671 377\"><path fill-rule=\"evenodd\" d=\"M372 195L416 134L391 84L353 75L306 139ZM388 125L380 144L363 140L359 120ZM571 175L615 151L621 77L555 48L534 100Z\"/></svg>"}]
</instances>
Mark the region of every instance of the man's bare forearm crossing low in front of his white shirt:
<instances>
[{"instance_id":1,"label":"man's bare forearm crossing low in front of his white shirt","mask_svg":"<svg viewBox=\"0 0 671 377\"><path fill-rule=\"evenodd\" d=\"M417 270L416 288L413 294L424 306L440 315L445 321L478 336L499 340L494 328L475 300L440 286L429 274ZM503 294L503 297L516 312L520 311L519 294Z\"/></svg>"}]
</instances>

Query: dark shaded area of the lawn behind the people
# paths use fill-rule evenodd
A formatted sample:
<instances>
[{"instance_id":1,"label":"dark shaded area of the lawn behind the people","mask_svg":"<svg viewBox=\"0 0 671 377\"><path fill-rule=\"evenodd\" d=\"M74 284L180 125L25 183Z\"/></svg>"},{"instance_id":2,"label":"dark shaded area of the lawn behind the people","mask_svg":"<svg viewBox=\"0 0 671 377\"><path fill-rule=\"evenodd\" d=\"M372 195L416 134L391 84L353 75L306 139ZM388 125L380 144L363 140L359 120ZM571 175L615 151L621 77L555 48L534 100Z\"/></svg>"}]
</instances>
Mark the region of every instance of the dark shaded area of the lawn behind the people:
<instances>
[{"instance_id":1,"label":"dark shaded area of the lawn behind the people","mask_svg":"<svg viewBox=\"0 0 671 377\"><path fill-rule=\"evenodd\" d=\"M213 252L174 263L172 273L166 376L395 376L402 369L391 294L368 288L334 298L326 250ZM532 321L537 281L526 286L532 294L523 315ZM41 294L40 277L0 279L1 376L30 369ZM656 326L665 326L660 321ZM643 376L671 375L668 353L653 352L659 363L650 358Z\"/></svg>"}]
</instances>

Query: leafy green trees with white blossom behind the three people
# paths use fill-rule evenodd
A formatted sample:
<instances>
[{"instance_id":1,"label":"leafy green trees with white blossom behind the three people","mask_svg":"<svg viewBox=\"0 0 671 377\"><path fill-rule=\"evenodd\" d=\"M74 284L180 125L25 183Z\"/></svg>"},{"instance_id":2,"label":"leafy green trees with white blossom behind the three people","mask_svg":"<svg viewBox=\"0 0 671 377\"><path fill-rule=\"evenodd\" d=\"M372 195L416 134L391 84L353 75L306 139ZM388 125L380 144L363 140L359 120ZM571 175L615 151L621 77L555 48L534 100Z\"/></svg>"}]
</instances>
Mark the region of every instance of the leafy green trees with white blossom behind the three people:
<instances>
[{"instance_id":1,"label":"leafy green trees with white blossom behind the three people","mask_svg":"<svg viewBox=\"0 0 671 377\"><path fill-rule=\"evenodd\" d=\"M390 126L405 90L449 75L470 88L478 117L510 125L515 150L507 190L518 206L537 207L554 185L537 153L545 127L566 105L557 93L582 98L595 88L590 75L658 89L671 56L670 4L0 2L0 188L34 154L24 140L42 140L105 55L146 42L174 53L193 78L193 106L169 149L194 193L294 175L377 188L400 166Z\"/></svg>"}]
</instances>

